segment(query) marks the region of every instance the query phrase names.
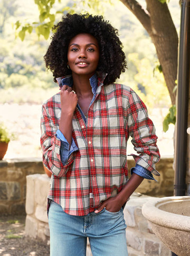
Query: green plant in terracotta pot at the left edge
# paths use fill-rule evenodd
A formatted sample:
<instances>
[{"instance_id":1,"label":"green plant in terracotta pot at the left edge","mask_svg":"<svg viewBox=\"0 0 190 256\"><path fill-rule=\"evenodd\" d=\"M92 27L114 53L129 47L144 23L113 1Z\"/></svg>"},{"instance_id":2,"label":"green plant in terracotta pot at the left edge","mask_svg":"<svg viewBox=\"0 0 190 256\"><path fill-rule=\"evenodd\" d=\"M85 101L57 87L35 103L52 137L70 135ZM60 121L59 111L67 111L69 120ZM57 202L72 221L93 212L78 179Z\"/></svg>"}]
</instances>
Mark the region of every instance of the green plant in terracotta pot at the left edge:
<instances>
[{"instance_id":1,"label":"green plant in terracotta pot at the left edge","mask_svg":"<svg viewBox=\"0 0 190 256\"><path fill-rule=\"evenodd\" d=\"M0 160L2 160L6 154L8 143L11 140L11 137L12 135L9 135L4 124L0 123Z\"/></svg>"}]
</instances>

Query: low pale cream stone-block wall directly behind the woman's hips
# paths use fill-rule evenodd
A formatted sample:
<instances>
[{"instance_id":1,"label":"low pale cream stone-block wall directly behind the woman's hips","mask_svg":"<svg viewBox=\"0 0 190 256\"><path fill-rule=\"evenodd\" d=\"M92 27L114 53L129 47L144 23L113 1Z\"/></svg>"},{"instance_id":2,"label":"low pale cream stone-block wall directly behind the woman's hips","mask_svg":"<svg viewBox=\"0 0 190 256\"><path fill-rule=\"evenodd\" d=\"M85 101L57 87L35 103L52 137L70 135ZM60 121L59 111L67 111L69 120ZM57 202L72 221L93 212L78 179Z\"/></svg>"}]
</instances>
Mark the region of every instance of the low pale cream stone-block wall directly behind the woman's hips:
<instances>
[{"instance_id":1,"label":"low pale cream stone-block wall directly behind the woman's hips","mask_svg":"<svg viewBox=\"0 0 190 256\"><path fill-rule=\"evenodd\" d=\"M47 244L50 241L48 217L46 215L46 197L49 187L50 178L46 174L27 176L25 234L33 239L42 239ZM149 198L149 196L134 193L124 209L129 256L170 255L169 249L155 236L141 213L143 204ZM91 255L88 243L87 256Z\"/></svg>"}]
</instances>

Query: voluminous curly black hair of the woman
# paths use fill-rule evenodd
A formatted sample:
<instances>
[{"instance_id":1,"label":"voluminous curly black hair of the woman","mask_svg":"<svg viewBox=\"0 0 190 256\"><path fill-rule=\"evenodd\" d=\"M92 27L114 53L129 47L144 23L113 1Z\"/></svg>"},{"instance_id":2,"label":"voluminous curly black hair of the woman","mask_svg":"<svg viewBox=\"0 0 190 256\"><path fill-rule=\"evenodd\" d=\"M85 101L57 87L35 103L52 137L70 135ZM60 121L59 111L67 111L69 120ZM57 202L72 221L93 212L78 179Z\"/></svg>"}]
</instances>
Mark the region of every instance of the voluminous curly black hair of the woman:
<instances>
[{"instance_id":1,"label":"voluminous curly black hair of the woman","mask_svg":"<svg viewBox=\"0 0 190 256\"><path fill-rule=\"evenodd\" d=\"M107 73L104 85L114 83L121 72L125 72L127 62L122 51L122 43L118 37L118 30L113 28L102 16L89 14L67 14L62 21L54 26L55 33L51 44L44 56L46 68L56 77L71 74L68 69L67 54L70 40L80 33L91 34L98 40L100 59L97 71Z\"/></svg>"}]
</instances>

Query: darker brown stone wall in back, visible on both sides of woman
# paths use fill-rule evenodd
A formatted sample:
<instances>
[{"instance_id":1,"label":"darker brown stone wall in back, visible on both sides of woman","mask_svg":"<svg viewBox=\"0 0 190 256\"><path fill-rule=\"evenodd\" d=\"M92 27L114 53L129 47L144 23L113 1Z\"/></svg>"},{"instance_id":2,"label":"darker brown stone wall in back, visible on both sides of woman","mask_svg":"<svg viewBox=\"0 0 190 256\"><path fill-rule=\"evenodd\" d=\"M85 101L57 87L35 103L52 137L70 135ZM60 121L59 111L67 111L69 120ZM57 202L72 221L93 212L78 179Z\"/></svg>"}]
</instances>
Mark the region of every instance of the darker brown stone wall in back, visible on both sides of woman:
<instances>
[{"instance_id":1,"label":"darker brown stone wall in back, visible on both sides of woman","mask_svg":"<svg viewBox=\"0 0 190 256\"><path fill-rule=\"evenodd\" d=\"M128 159L128 169L135 166ZM136 192L149 196L173 196L173 157L164 157L156 165L158 182L144 180ZM25 214L26 176L44 173L41 158L13 158L0 161L0 214Z\"/></svg>"}]
</instances>

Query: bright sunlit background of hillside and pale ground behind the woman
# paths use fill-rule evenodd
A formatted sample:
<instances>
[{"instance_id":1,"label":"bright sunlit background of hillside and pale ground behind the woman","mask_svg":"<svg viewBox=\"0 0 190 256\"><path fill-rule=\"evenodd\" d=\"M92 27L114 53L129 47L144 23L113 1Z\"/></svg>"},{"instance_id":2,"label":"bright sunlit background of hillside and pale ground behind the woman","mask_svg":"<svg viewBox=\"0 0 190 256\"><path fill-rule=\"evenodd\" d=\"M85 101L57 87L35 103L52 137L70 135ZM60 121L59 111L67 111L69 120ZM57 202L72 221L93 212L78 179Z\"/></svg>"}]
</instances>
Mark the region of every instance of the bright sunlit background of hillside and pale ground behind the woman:
<instances>
[{"instance_id":1,"label":"bright sunlit background of hillside and pale ground behind the woman","mask_svg":"<svg viewBox=\"0 0 190 256\"><path fill-rule=\"evenodd\" d=\"M102 14L119 30L128 61L128 69L119 82L132 87L147 105L149 116L156 126L161 155L173 155L174 125L169 125L164 133L162 124L171 102L163 74L156 68L159 62L147 32L119 0L104 1L98 10L92 10L81 1L62 1L55 8L72 6L73 3L77 13L88 11ZM179 33L178 1L171 0L168 6ZM34 32L26 34L24 41L15 38L16 21L37 21L39 11L34 0L1 0L0 10L0 122L3 121L15 137L8 145L5 158L42 157L41 105L59 92L43 61L50 39L38 38ZM58 21L60 17L61 14L57 17ZM131 151L133 146L129 142L128 154Z\"/></svg>"}]
</instances>

